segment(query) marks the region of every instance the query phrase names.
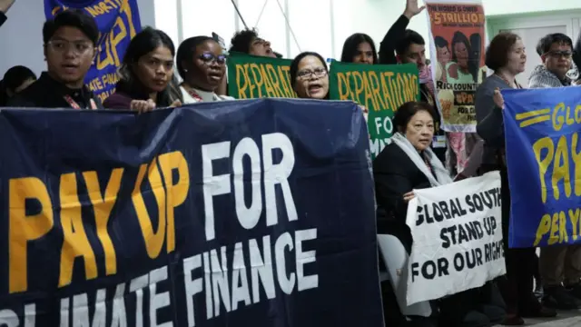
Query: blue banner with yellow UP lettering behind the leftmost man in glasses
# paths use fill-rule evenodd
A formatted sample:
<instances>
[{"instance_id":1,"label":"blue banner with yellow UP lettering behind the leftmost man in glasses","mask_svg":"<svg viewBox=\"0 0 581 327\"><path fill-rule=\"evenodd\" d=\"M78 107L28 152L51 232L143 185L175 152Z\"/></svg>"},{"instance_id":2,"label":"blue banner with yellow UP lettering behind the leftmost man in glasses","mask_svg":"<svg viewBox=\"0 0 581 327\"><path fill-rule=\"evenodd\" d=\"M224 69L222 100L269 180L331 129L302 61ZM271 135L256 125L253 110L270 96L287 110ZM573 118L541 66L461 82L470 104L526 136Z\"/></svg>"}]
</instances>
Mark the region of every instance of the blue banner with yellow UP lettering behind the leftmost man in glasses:
<instances>
[{"instance_id":1,"label":"blue banner with yellow UP lettering behind the leftmost man in glasses","mask_svg":"<svg viewBox=\"0 0 581 327\"><path fill-rule=\"evenodd\" d=\"M104 101L115 92L125 50L142 29L137 0L44 0L46 19L68 8L84 9L99 26L98 53L85 84Z\"/></svg>"}]
</instances>

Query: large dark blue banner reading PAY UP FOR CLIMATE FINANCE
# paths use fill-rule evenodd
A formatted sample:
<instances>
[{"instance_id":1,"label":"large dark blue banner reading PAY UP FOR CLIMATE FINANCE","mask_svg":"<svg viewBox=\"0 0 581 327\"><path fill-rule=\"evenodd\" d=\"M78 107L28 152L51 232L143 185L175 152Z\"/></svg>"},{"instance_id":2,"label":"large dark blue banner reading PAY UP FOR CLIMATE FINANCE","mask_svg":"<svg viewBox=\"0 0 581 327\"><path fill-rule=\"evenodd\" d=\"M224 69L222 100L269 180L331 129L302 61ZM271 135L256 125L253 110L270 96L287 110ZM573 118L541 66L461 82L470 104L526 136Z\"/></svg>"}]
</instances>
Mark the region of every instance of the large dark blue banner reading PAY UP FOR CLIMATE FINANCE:
<instances>
[{"instance_id":1,"label":"large dark blue banner reading PAY UP FOR CLIMATE FINANCE","mask_svg":"<svg viewBox=\"0 0 581 327\"><path fill-rule=\"evenodd\" d=\"M383 326L355 104L7 109L0 126L0 325Z\"/></svg>"}]
</instances>

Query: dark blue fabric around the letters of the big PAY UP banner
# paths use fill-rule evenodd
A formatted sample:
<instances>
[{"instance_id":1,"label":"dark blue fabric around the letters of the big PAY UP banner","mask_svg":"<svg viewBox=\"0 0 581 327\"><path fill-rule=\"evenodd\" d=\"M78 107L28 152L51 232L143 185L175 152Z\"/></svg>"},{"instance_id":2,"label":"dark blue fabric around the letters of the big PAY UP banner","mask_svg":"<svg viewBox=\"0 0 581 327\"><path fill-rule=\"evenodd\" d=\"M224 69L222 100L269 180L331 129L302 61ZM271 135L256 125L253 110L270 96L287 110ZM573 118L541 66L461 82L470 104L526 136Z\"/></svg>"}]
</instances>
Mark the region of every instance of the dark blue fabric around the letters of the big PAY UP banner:
<instances>
[{"instance_id":1,"label":"dark blue fabric around the letters of the big PAY UP banner","mask_svg":"<svg viewBox=\"0 0 581 327\"><path fill-rule=\"evenodd\" d=\"M242 139L250 138L257 144L262 160L262 137L274 133L284 134L291 141L294 165L288 181L298 219L289 221L281 186L277 186L279 223L266 225L264 206L267 202L262 181L264 172L255 171L251 177L251 162L245 156L242 160L245 204L249 207L252 202L251 182L260 182L257 183L261 187L263 207L260 220L254 228L241 227L235 206L233 177L230 177L231 193L212 198L215 238L206 240L205 213L208 209L204 203L203 187L204 183L212 186L215 180L202 177L202 146L231 142L230 159L214 160L211 163L213 175L227 174L232 172L231 157ZM369 171L369 138L365 121L356 104L262 99L192 104L140 115L72 109L3 109L0 111L0 144L0 206L3 208L0 231L5 233L0 238L0 247L4 249L0 252L0 262L5 263L4 268L0 269L0 281L3 281L0 283L0 309L13 310L21 319L20 325L24 325L22 319L27 304L34 304L35 326L62 325L60 314L65 306L61 299L76 297L68 302L68 306L78 308L70 309L68 314L66 310L63 311L64 316L71 320L69 325L73 326L73 321L83 320L83 310L86 310L86 306L74 303L82 303L82 294L86 293L89 322L97 326L99 324L95 324L94 317L98 316L95 312L100 309L99 306L95 307L94 302L97 290L104 289L107 301L103 307L106 310L106 323L103 326L112 325L113 309L119 310L123 303L126 326L137 326L136 316L143 318L143 326L152 325L150 299L153 292L169 292L169 306L164 304L159 310L153 311L158 325L173 322L173 326L190 326L184 278L210 278L216 274L212 274L210 267L204 264L203 255L202 267L206 273L201 269L195 270L192 275L190 272L184 273L183 260L216 250L216 263L220 262L222 255L227 257L230 294L233 272L245 273L252 302L248 305L244 301L238 302L238 308L231 312L226 312L222 304L217 317L218 309L214 307L211 314L214 317L208 319L206 296L212 296L212 292L206 292L205 281L202 279L200 285L203 291L193 296L196 326L383 326L375 200ZM271 152L273 161L280 163L284 160L283 156L289 154L289 150L287 148L284 152L274 149ZM133 204L133 189L141 164L153 163L154 167L160 168L162 163L155 158L175 152L183 154L187 161L189 188L185 201L174 209L175 250L168 253L164 242L161 253L152 259L145 249L142 228ZM263 164L262 161L261 167ZM107 232L116 253L116 273L106 275L103 245L96 233L94 208L84 175L86 172L97 173L103 195L115 168L123 168L120 190L116 200L106 201L114 201ZM61 213L64 208L73 205L61 203L61 181L66 173L74 173L76 176L84 231L96 258L98 277L87 281L84 259L77 257L74 261L73 282L59 287L64 243ZM34 197L42 193L42 187L14 188L10 192L10 184L15 184L16 179L20 178L38 179L44 184L52 201L52 210L47 210L54 214L54 226L26 244L27 269L16 273L15 266L11 265L25 258L10 258L9 253L18 253L18 249L15 249L15 243L9 242L9 235L12 233L13 238L18 237L24 230L19 229L10 217L20 217L17 222L22 222L21 218L46 219L46 215L31 217L40 213L41 204ZM164 189L181 181L177 169L172 171L171 179L168 181L163 177ZM141 190L153 231L157 231L160 215L147 177ZM14 202L17 193L28 197L24 208ZM162 229L166 226L169 226L167 221L162 224ZM296 233L310 229L316 229L316 239L302 242L301 251L315 251L316 261L305 263L302 274L317 275L318 287L299 291L296 276L300 272L297 270L297 262L302 259L295 258L299 250L295 243ZM261 253L270 250L274 257L275 243L284 233L289 233L293 240L293 246L284 248L284 253L287 278L291 274L295 276L294 288L290 295L282 292L277 277L280 266L273 259L267 268L273 271L276 296L268 300L262 283L257 284L251 278L249 240L255 239ZM262 246L265 236L271 239L269 249ZM236 243L241 243L244 252L245 271L240 269L240 264L232 266ZM140 316L136 313L136 306L140 302L137 292L130 289L131 281L156 269L165 270L168 278L163 282L147 282L148 286L143 289L143 314ZM216 272L216 269L221 270L220 266L212 264L212 271ZM13 278L15 274L24 275L27 281L25 292L10 293L11 271ZM123 283L123 301L115 303L115 288ZM152 288L152 285L156 286ZM252 290L255 285L260 290L260 299L256 302ZM30 306L27 308L31 310ZM0 317L0 324L2 319Z\"/></svg>"}]
</instances>

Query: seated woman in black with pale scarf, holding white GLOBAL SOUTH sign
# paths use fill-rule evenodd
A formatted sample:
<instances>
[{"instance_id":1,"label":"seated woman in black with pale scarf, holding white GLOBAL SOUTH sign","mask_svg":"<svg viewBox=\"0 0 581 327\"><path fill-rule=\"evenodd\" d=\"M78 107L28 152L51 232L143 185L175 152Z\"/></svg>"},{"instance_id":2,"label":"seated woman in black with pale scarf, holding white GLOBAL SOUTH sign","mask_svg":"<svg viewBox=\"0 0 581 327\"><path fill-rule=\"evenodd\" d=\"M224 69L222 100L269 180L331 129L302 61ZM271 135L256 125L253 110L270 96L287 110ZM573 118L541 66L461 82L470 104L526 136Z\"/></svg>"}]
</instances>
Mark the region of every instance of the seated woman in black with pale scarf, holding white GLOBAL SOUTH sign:
<instances>
[{"instance_id":1,"label":"seated woman in black with pale scarf, holding white GLOBAL SOUTH sign","mask_svg":"<svg viewBox=\"0 0 581 327\"><path fill-rule=\"evenodd\" d=\"M392 136L393 143L373 162L378 207L387 215L386 220L378 223L379 233L398 237L408 253L411 253L413 239L406 220L408 203L414 198L413 190L452 183L448 170L430 148L437 117L430 104L409 102L401 105L393 118L398 131ZM488 304L491 302L488 294L476 289L433 302L440 312L440 325L471 326L500 321L504 311ZM386 315L387 320L394 319L393 313Z\"/></svg>"}]
</instances>

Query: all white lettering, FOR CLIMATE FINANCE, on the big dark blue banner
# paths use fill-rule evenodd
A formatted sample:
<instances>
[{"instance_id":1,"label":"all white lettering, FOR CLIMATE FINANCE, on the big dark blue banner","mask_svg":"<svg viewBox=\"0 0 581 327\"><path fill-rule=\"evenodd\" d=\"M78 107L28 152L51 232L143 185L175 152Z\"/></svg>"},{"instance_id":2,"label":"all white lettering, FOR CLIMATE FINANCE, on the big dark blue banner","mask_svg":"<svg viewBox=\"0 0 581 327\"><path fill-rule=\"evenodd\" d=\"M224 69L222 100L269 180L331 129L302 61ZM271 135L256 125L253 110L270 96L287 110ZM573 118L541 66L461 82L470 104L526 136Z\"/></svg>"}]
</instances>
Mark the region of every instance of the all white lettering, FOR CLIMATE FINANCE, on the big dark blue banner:
<instances>
[{"instance_id":1,"label":"all white lettering, FOR CLIMATE FINANCE, on the big dark blue banner","mask_svg":"<svg viewBox=\"0 0 581 327\"><path fill-rule=\"evenodd\" d=\"M288 181L295 164L291 140L280 133L265 134L261 137L261 145L260 148L251 138L242 139L233 149L231 142L202 145L207 240L216 238L213 198L231 193L232 188L233 199L223 199L232 199L233 205L229 207L234 207L232 213L226 214L226 223L236 221L233 218L235 212L242 228L255 229L264 212L265 222L261 229L276 225L280 219L285 219L279 218L277 204L281 207L281 201L286 209L286 219L289 222L298 220ZM230 160L227 162L231 164L228 171L232 173L214 174L214 164L218 160ZM250 170L246 170L250 176L244 173L243 164L250 165ZM245 186L250 186L250 192L245 193ZM277 199L277 192L282 195L281 199ZM112 327L172 327L172 315L160 312L170 312L172 301L182 302L182 293L185 293L187 307L187 314L182 319L187 317L187 325L195 326L197 320L211 320L274 299L277 293L292 294L318 288L317 253L310 242L317 240L317 229L287 227L282 231L279 228L276 233L277 236L267 234L261 239L227 245L222 245L222 237L222 246L213 245L219 248L183 259L182 268L177 268L182 269L183 277L176 272L178 263L173 263L172 280L170 269L163 266L131 281L60 299L60 327L108 327L109 323ZM182 278L184 292L180 289L172 293ZM202 308L204 303L205 311ZM33 327L38 304L26 304L24 316L22 308L0 311L0 326L22 326L21 320L24 319L24 327ZM38 308L41 311L42 306ZM134 308L134 312L127 312L128 308L132 311Z\"/></svg>"}]
</instances>

